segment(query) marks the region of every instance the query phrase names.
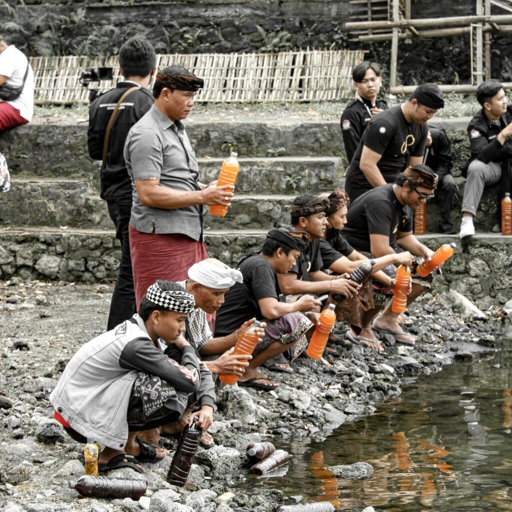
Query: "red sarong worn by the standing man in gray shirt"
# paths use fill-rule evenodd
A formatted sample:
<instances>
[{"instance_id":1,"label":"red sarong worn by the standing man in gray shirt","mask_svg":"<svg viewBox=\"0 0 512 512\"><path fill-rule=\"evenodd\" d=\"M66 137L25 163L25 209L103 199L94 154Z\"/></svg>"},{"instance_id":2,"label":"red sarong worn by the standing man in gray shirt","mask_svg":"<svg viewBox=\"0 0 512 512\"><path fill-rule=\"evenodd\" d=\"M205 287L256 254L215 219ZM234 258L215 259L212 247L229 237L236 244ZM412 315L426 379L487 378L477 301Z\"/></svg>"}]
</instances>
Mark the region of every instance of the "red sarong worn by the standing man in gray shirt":
<instances>
[{"instance_id":1,"label":"red sarong worn by the standing man in gray shirt","mask_svg":"<svg viewBox=\"0 0 512 512\"><path fill-rule=\"evenodd\" d=\"M205 243L185 234L142 233L132 226L129 233L137 310L155 281L184 281L194 263L208 258Z\"/></svg>"}]
</instances>

